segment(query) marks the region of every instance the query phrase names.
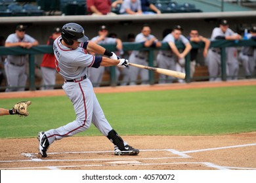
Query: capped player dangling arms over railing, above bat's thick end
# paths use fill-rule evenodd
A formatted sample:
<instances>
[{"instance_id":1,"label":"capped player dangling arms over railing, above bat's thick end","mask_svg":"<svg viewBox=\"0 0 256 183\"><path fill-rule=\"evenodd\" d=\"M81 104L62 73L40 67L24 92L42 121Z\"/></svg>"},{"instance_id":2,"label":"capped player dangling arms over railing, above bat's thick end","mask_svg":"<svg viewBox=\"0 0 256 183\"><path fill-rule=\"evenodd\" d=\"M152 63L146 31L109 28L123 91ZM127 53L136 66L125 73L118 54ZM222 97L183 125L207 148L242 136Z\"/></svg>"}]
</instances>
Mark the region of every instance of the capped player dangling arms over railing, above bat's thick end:
<instances>
[{"instance_id":1,"label":"capped player dangling arms over railing, above bat's thick end","mask_svg":"<svg viewBox=\"0 0 256 183\"><path fill-rule=\"evenodd\" d=\"M160 50L157 56L158 67L163 69L170 69L173 71L179 71L185 73L185 56L190 52L192 46L188 39L182 35L181 25L175 25L171 33L167 34L162 42L167 42L171 49ZM179 50L175 42L182 42L185 46L184 50ZM159 75L159 83L173 82L173 77ZM184 80L179 79L178 82L184 82Z\"/></svg>"}]
</instances>

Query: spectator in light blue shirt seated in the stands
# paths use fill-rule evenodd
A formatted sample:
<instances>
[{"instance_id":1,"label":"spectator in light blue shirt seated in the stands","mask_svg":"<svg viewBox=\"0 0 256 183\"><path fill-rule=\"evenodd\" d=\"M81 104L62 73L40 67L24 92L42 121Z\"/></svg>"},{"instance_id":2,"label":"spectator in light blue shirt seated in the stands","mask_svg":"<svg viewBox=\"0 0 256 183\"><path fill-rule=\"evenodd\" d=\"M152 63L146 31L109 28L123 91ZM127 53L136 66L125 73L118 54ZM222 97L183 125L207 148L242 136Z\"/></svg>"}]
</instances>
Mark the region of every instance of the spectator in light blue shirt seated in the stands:
<instances>
[{"instance_id":1,"label":"spectator in light blue shirt seated in the stands","mask_svg":"<svg viewBox=\"0 0 256 183\"><path fill-rule=\"evenodd\" d=\"M119 11L120 14L142 14L140 0L124 0Z\"/></svg>"}]
</instances>

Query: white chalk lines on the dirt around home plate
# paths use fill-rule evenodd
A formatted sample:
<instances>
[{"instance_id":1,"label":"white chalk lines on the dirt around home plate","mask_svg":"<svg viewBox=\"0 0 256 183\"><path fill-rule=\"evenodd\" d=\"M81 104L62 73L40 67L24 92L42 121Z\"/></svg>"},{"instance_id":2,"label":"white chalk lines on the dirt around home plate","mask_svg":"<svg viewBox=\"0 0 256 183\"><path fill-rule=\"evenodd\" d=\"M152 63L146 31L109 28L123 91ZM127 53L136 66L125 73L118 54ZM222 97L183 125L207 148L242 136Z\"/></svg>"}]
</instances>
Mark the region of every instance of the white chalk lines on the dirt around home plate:
<instances>
[{"instance_id":1,"label":"white chalk lines on the dirt around home plate","mask_svg":"<svg viewBox=\"0 0 256 183\"><path fill-rule=\"evenodd\" d=\"M224 146L224 147L219 147L219 148L207 148L207 149L202 149L202 150L188 150L188 151L183 151L179 152L177 150L173 149L162 149L162 150L140 150L140 152L149 152L149 151L169 151L173 154L177 154L179 157L162 157L162 158L125 158L125 159L39 159L39 158L33 158L35 156L34 153L32 154L22 154L26 157L29 157L31 159L29 160L14 160L14 161L0 161L0 162L18 162L18 161L108 161L108 160L142 160L142 159L177 159L177 158L191 158L190 156L186 155L188 153L193 153L193 152L203 152L203 151L209 151L209 150L220 150L220 149L226 149L226 148L240 148L240 147L245 147L245 146L255 146L255 144L242 144L242 145L237 145L237 146ZM113 151L98 151L98 152L53 152L53 153L48 153L48 154L87 154L87 153L106 153L106 152L113 152ZM219 166L215 165L213 163L209 162L179 162L179 163L140 163L140 164L134 164L134 165L171 165L171 164L203 164L206 167L212 167L215 169L220 169L220 170L226 170L226 169L251 169L251 170L256 170L254 168L247 168L247 167L224 167L224 166ZM133 164L129 164L133 165ZM6 169L59 169L61 167L102 167L102 166L113 166L113 165L73 165L73 166L51 166L51 167L19 167L19 168L6 168Z\"/></svg>"}]
</instances>

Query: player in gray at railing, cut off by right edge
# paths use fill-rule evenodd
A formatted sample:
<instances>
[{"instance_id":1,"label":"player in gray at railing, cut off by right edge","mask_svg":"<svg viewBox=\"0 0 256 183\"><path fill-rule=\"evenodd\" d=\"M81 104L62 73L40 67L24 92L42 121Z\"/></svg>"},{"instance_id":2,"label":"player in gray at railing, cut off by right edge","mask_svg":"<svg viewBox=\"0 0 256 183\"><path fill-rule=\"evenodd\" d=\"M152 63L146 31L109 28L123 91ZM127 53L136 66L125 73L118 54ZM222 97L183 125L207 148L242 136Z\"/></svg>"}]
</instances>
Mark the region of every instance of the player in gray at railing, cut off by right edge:
<instances>
[{"instance_id":1,"label":"player in gray at railing, cut off by right edge","mask_svg":"<svg viewBox=\"0 0 256 183\"><path fill-rule=\"evenodd\" d=\"M247 39L253 39L256 41L256 26L251 27L250 33L247 35ZM256 47L242 46L239 59L242 61L242 65L244 67L245 78L251 78L255 71Z\"/></svg>"}]
</instances>

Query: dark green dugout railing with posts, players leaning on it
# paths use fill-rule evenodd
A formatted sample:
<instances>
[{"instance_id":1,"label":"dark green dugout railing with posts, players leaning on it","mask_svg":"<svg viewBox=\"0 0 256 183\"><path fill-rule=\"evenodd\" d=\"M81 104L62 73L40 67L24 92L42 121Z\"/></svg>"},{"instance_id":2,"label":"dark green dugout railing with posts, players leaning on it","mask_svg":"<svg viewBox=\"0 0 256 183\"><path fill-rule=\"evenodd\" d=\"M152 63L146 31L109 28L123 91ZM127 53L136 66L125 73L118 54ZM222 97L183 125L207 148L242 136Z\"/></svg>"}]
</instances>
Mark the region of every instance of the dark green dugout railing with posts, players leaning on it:
<instances>
[{"instance_id":1,"label":"dark green dugout railing with posts, players leaning on it","mask_svg":"<svg viewBox=\"0 0 256 183\"><path fill-rule=\"evenodd\" d=\"M194 43L190 42L192 44L192 48L203 48L204 43ZM182 49L184 48L184 44L181 42L177 42L177 48ZM115 51L116 45L115 44L102 44L102 46L108 50ZM249 40L240 40L240 41L211 41L210 48L221 48L221 79L223 81L226 81L227 75L226 75L226 54L225 49L226 47L241 47L241 46L256 46L256 41L249 39ZM168 50L169 45L165 42L162 44L160 48L145 48L140 43L135 42L123 42L123 51L127 50L146 50L149 52L148 54L148 66L150 67L156 67L154 65L154 51L158 50ZM28 90L36 90L37 87L35 85L35 55L36 54L47 54L47 53L53 53L52 46L49 45L39 45L34 46L30 49L21 48L21 47L5 47L0 46L0 56L7 56L7 55L22 55L22 54L28 54L29 59L29 76L28 76L28 83L29 86L25 86ZM186 63L185 63L185 70L186 70L186 78L185 81L187 83L191 82L190 78L190 55L188 54L186 56ZM155 73L153 71L149 71L149 83L155 84ZM209 76L208 76L209 79ZM110 67L110 86L117 86L117 80L116 80L116 69L115 67ZM24 87L24 86L21 86ZM7 86L0 86L0 90L5 90Z\"/></svg>"}]
</instances>

